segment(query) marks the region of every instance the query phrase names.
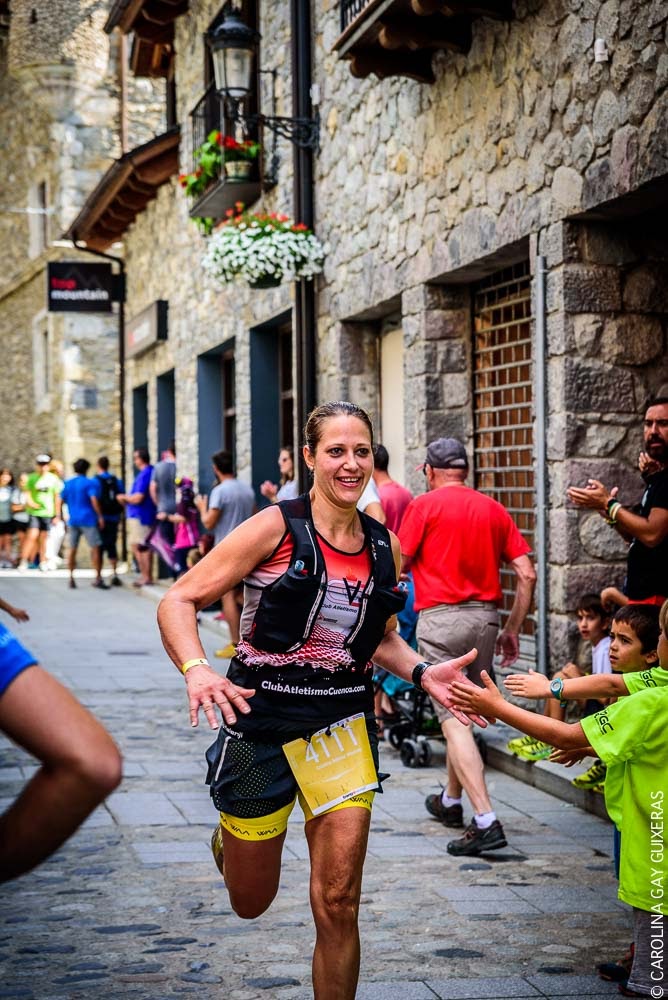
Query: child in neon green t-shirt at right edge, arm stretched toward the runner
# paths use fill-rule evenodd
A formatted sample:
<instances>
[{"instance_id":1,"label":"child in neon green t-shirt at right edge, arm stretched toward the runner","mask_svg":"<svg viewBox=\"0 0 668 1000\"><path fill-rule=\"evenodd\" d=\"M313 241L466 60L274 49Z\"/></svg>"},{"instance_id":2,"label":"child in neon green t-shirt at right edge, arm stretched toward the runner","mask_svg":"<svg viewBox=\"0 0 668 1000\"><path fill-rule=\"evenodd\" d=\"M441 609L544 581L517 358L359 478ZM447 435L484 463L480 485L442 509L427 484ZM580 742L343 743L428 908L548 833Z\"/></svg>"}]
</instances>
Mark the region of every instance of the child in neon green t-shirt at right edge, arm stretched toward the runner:
<instances>
[{"instance_id":1,"label":"child in neon green t-shirt at right edge, arm stretched toward the runner","mask_svg":"<svg viewBox=\"0 0 668 1000\"><path fill-rule=\"evenodd\" d=\"M623 996L668 995L663 958L668 913L668 684L664 680L668 675L668 601L661 608L659 623L658 668L642 671L633 680L629 675L618 678L626 692L637 692L636 696L572 725L509 704L485 671L481 675L484 688L466 681L452 685L456 707L462 711L501 719L567 753L593 752L608 765L606 805L610 818L626 831L619 898L633 907L634 917L633 966L628 982L620 984ZM580 695L585 683L600 685L611 680L580 678L569 683L571 691L579 685L576 694ZM596 691L602 693L599 687ZM623 692L620 688L614 693Z\"/></svg>"}]
</instances>

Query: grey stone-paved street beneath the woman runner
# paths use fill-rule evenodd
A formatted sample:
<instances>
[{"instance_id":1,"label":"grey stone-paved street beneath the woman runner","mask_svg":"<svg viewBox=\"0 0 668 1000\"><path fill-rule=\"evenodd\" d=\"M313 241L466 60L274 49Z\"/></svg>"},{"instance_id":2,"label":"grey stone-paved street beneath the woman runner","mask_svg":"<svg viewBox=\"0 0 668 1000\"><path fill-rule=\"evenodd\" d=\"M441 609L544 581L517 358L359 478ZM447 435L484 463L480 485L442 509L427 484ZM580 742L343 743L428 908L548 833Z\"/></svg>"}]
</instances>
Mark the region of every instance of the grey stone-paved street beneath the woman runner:
<instances>
[{"instance_id":1,"label":"grey stone-paved street beneath the woman runner","mask_svg":"<svg viewBox=\"0 0 668 1000\"><path fill-rule=\"evenodd\" d=\"M2 887L0 998L306 1000L314 930L299 808L278 898L259 919L239 920L208 848L212 737L188 725L155 604L127 588L104 593L82 580L72 592L62 578L9 571L0 595L28 609L31 621L11 627L125 758L123 784L76 836ZM210 628L202 635L211 654L220 640ZM617 995L592 971L631 936L606 821L490 770L509 847L452 858L453 832L423 807L440 766L406 769L385 746L381 762L392 778L373 813L359 1000ZM32 770L0 737L0 808Z\"/></svg>"}]
</instances>

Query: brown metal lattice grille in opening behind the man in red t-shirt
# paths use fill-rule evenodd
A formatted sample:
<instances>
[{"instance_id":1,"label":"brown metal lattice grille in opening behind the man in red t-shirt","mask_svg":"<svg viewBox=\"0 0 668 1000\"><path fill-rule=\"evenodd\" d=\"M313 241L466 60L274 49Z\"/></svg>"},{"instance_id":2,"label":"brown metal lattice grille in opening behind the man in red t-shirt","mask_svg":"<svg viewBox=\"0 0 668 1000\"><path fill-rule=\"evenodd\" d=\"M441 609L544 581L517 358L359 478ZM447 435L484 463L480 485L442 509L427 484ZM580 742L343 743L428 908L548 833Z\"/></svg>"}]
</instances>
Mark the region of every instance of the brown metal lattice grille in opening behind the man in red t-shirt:
<instances>
[{"instance_id":1,"label":"brown metal lattice grille in opening behind the man in red t-shirt","mask_svg":"<svg viewBox=\"0 0 668 1000\"><path fill-rule=\"evenodd\" d=\"M474 289L473 419L475 485L504 505L529 545L535 520L531 276L523 261ZM502 569L502 623L515 574ZM522 658L533 653L535 621L523 628Z\"/></svg>"}]
</instances>

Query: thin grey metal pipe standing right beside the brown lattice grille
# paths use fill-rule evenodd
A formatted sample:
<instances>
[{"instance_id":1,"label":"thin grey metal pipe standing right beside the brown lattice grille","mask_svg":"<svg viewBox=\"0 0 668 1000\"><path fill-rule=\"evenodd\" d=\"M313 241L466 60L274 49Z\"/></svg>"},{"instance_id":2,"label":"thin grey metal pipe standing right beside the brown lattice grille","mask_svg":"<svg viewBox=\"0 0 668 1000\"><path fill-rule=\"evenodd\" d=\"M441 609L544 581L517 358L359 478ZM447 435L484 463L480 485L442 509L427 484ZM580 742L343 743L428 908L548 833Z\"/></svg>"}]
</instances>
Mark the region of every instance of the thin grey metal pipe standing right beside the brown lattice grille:
<instances>
[{"instance_id":1,"label":"thin grey metal pipe standing right beside the brown lattice grille","mask_svg":"<svg viewBox=\"0 0 668 1000\"><path fill-rule=\"evenodd\" d=\"M536 257L534 277L536 307L536 341L534 345L534 368L536 388L536 552L538 553L538 576L536 602L538 611L538 635L536 665L542 674L547 674L548 650L548 532L547 532L547 324L545 306L545 280L547 269L545 257Z\"/></svg>"}]
</instances>

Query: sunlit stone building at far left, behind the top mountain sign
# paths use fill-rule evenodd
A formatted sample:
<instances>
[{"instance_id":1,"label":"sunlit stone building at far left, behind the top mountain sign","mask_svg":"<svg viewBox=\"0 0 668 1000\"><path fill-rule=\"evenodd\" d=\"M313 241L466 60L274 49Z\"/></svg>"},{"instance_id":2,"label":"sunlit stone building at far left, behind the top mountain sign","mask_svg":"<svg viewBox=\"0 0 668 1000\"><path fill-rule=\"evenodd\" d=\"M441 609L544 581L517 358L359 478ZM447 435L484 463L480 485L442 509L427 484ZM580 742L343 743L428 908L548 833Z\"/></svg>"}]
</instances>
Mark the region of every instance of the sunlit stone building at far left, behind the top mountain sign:
<instances>
[{"instance_id":1,"label":"sunlit stone building at far left, behind the top mountain sign","mask_svg":"<svg viewBox=\"0 0 668 1000\"><path fill-rule=\"evenodd\" d=\"M54 246L120 155L118 39L107 3L12 0L0 40L0 454L16 474L48 451L103 452L118 465L118 317L47 312L49 261L95 260ZM164 85L131 80L130 141L164 120ZM99 262L99 258L98 258Z\"/></svg>"}]
</instances>

